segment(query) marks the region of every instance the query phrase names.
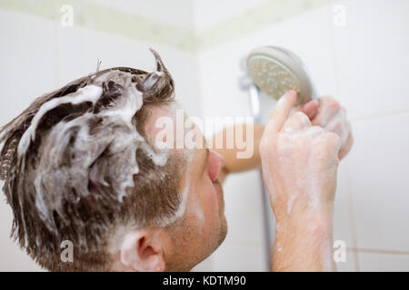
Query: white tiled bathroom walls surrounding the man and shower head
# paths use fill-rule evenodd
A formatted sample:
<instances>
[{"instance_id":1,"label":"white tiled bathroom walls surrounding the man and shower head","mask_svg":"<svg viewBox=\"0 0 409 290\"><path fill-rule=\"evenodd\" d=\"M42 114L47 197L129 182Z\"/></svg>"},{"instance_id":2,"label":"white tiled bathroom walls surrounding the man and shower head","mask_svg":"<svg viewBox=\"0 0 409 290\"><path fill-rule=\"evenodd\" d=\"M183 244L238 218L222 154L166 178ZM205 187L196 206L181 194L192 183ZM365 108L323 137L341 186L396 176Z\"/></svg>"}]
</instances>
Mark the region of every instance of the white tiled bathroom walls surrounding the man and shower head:
<instances>
[{"instance_id":1,"label":"white tiled bathroom walls surrounding the man and shower head","mask_svg":"<svg viewBox=\"0 0 409 290\"><path fill-rule=\"evenodd\" d=\"M409 271L408 1L88 2L151 17L160 22L157 30L171 25L169 34L191 38L139 39L90 29L86 19L85 26L62 27L43 14L2 7L0 0L0 125L35 96L94 72L97 58L103 69L153 69L149 46L174 74L177 98L188 113L250 116L247 92L239 85L241 60L259 45L284 46L303 59L318 92L334 96L352 121L354 148L341 162L335 200L334 239L347 246L347 261L338 269ZM155 13L159 5L165 9ZM273 109L264 96L264 120ZM196 270L264 271L257 172L229 177L224 197L228 235ZM38 269L8 238L5 202L0 218L0 270Z\"/></svg>"}]
</instances>

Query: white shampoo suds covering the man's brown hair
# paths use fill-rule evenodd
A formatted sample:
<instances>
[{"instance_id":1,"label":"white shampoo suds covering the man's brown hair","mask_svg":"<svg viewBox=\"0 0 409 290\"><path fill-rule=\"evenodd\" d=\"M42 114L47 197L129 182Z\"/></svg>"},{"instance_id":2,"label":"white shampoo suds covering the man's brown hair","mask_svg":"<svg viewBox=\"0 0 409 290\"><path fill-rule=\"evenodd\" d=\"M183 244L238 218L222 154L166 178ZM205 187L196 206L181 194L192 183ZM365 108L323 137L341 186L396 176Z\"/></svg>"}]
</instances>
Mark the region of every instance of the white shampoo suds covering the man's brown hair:
<instances>
[{"instance_id":1,"label":"white shampoo suds covering the man's brown hair","mask_svg":"<svg viewBox=\"0 0 409 290\"><path fill-rule=\"evenodd\" d=\"M112 76L110 74L101 75L95 79L95 82L104 82L106 78ZM60 121L50 131L49 141L45 142L44 145L44 150L48 154L43 160L40 160L35 178L37 192L35 206L50 230L55 229L51 222L53 209L59 212L59 208L63 206L61 197L54 195L45 197L45 190L47 194L50 190L57 190L51 189L50 185L55 187L58 184L62 189L74 188L77 196L73 202L78 202L80 198L89 195L89 174L89 179L96 184L110 185L117 193L118 201L122 202L127 194L127 189L135 187L134 175L139 172L135 154L138 148L144 150L147 157L153 160L157 166L165 166L169 155L168 150L156 152L136 131L135 124L133 124L135 113L143 105L143 92L139 92L135 88L135 84L133 85L130 81L131 78L130 73L122 73L120 79L115 80L122 85L124 92L115 99L113 105L97 113L85 112L84 115L72 121ZM45 102L20 141L18 146L20 156L25 154L30 141L35 140L38 122L48 111L67 102L72 104L92 102L95 104L102 95L103 88L92 84L65 97ZM91 131L91 126L94 126L93 131ZM95 128L99 129L96 130ZM75 140L74 143L73 139ZM70 160L72 166L62 168L60 159L68 148L75 152ZM116 164L116 167L106 168L106 164L100 164L100 162L105 162L105 160L98 160L104 151L112 152L112 164ZM106 172L101 171L106 169L110 170L108 175L110 183L104 179ZM185 206L184 202L185 199L182 206ZM176 218L181 214L181 212L177 212Z\"/></svg>"}]
</instances>

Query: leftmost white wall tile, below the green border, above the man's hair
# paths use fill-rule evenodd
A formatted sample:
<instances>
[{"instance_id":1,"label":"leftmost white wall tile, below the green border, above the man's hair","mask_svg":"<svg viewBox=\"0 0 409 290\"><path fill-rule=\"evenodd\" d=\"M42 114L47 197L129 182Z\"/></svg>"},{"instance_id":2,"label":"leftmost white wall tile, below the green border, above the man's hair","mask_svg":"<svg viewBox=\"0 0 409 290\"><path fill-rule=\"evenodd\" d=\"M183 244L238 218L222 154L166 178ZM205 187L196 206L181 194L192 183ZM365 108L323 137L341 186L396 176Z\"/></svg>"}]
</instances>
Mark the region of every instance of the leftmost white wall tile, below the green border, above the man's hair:
<instances>
[{"instance_id":1,"label":"leftmost white wall tile, below the green border, above the man's hair","mask_svg":"<svg viewBox=\"0 0 409 290\"><path fill-rule=\"evenodd\" d=\"M55 89L55 24L0 10L0 126Z\"/></svg>"}]
</instances>

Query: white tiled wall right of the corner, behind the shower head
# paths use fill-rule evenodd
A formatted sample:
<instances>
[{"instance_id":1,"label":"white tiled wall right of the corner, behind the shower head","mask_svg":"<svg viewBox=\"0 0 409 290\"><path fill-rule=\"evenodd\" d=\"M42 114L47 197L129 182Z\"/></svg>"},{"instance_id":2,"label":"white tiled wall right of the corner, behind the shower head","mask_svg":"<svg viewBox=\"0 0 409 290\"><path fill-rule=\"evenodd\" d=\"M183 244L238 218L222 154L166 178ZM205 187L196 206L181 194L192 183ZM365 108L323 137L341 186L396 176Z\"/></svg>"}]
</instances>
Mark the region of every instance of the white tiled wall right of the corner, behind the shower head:
<instances>
[{"instance_id":1,"label":"white tiled wall right of the corner, behind the shower head","mask_svg":"<svg viewBox=\"0 0 409 290\"><path fill-rule=\"evenodd\" d=\"M318 92L346 108L354 148L338 173L334 240L347 246L340 271L409 270L408 16L404 0L334 1L200 54L205 115L250 114L239 60L265 44L297 53ZM266 118L274 106L263 104ZM215 271L264 269L257 182L256 172L227 179L230 232L210 257Z\"/></svg>"}]
</instances>

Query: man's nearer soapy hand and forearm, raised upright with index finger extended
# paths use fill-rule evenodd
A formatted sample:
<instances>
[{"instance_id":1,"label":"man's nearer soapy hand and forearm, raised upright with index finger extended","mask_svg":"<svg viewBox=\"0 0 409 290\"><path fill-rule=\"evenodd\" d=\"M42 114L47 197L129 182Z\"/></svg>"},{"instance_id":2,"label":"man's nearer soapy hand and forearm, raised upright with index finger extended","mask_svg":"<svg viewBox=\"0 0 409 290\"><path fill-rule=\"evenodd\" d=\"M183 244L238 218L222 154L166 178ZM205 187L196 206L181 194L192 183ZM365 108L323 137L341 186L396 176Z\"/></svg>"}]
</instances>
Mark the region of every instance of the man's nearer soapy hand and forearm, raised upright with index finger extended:
<instances>
[{"instance_id":1,"label":"man's nearer soapy hand and forearm, raised upright with index finger extended","mask_svg":"<svg viewBox=\"0 0 409 290\"><path fill-rule=\"evenodd\" d=\"M332 217L342 140L313 126L294 107L297 92L277 103L260 142L264 183L277 223L274 270L330 270ZM319 112L314 116L318 119Z\"/></svg>"}]
</instances>

